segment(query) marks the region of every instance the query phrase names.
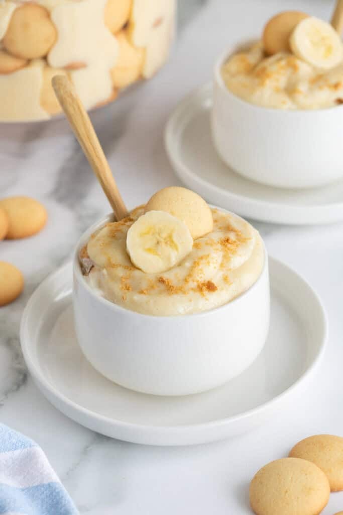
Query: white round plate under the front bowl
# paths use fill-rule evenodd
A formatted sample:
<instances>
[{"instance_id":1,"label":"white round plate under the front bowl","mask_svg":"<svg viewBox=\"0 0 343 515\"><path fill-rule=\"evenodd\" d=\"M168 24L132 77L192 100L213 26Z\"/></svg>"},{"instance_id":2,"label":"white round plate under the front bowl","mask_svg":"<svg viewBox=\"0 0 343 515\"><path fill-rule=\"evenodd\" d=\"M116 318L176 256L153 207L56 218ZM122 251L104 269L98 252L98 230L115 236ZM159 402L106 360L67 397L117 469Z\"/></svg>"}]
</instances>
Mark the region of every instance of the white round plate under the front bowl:
<instances>
[{"instance_id":1,"label":"white round plate under the front bowl","mask_svg":"<svg viewBox=\"0 0 343 515\"><path fill-rule=\"evenodd\" d=\"M308 382L327 339L326 315L313 289L286 265L271 258L269 264L272 319L265 348L224 386L186 397L157 397L105 379L76 340L71 264L43 281L25 308L21 344L28 369L67 417L120 440L186 445L251 430Z\"/></svg>"}]
</instances>

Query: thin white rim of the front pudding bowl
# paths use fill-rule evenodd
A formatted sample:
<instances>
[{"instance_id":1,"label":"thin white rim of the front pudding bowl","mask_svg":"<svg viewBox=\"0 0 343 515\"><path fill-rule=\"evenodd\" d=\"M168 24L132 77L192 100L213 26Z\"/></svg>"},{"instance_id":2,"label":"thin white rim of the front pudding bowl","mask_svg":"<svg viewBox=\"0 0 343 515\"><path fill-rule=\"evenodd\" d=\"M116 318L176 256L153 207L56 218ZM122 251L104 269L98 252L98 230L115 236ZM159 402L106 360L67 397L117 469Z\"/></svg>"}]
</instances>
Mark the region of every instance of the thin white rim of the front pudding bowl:
<instances>
[{"instance_id":1,"label":"thin white rim of the front pudding bowl","mask_svg":"<svg viewBox=\"0 0 343 515\"><path fill-rule=\"evenodd\" d=\"M217 207L215 205L211 205L211 204L209 204L209 205L213 209L218 209L219 211L224 211L225 213L237 216L241 220L244 220L244 218L242 218L241 216L236 215L235 213L231 213L231 211L228 211L227 209L219 208L219 207ZM137 318L138 317L139 318L145 318L145 319L146 318L152 318L154 320L156 320L156 319L158 319L158 320L173 319L174 320L174 319L181 319L181 318L184 319L184 318L189 318L189 317L204 317L204 316L208 316L210 313L213 313L215 311L229 309L227 306L231 305L232 303L237 303L237 302L240 301L240 299L243 299L246 295L248 295L250 293L250 291L252 289L257 287L257 285L262 281L262 277L264 276L264 274L266 272L266 268L267 268L267 265L268 265L268 254L267 254L267 251L266 251L266 248L265 248L265 244L264 244L263 238L261 237L261 241L262 241L262 244L263 244L264 262L263 262L263 267L262 267L262 270L261 270L261 273L260 273L259 277L257 278L257 280L248 289L243 291L243 293L241 293L240 295L238 295L234 299L226 302L225 304L222 304L222 305L217 306L217 307L213 307L213 308L211 308L209 310L206 310L206 311L201 311L201 312L198 312L198 313L189 313L189 314L185 314L185 315L163 315L163 316L160 316L160 315L147 315L145 313L138 313L137 311L129 310L126 307L119 306L118 304L115 304L114 302L112 302L110 300L107 300L105 297L100 297L94 291L94 289L91 288L91 286L89 286L89 284L87 284L87 281L84 280L84 275L82 273L81 265L80 265L80 261L79 261L79 251L84 246L85 241L87 239L89 239L89 236L91 234L93 234L97 229L100 229L104 224L106 224L106 222L113 221L113 216L114 216L113 213L107 214L106 216L101 218L101 220L95 222L95 224L93 224L91 227L89 227L86 231L83 232L83 234L79 238L79 241L76 244L76 248L74 250L73 270L74 270L74 273L77 276L77 279L79 281L82 281L82 284L84 285L86 290L94 298L96 298L101 303L107 305L112 310L117 311L119 313L120 312L121 313L131 313L132 316L136 316ZM244 220L244 221L246 221L246 220Z\"/></svg>"}]
</instances>

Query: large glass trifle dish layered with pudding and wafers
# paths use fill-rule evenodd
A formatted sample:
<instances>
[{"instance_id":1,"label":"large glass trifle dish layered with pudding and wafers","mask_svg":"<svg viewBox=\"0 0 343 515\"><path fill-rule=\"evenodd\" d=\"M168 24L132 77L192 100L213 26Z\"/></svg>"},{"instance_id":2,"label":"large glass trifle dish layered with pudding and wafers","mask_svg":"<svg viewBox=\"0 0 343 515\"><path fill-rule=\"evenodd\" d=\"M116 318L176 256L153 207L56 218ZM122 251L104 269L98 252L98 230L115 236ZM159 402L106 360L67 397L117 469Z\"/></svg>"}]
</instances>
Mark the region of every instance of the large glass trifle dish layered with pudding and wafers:
<instances>
[{"instance_id":1,"label":"large glass trifle dish layered with pudding and wafers","mask_svg":"<svg viewBox=\"0 0 343 515\"><path fill-rule=\"evenodd\" d=\"M114 100L166 61L176 0L0 0L0 121L48 119L61 108L54 75L86 109Z\"/></svg>"}]
</instances>

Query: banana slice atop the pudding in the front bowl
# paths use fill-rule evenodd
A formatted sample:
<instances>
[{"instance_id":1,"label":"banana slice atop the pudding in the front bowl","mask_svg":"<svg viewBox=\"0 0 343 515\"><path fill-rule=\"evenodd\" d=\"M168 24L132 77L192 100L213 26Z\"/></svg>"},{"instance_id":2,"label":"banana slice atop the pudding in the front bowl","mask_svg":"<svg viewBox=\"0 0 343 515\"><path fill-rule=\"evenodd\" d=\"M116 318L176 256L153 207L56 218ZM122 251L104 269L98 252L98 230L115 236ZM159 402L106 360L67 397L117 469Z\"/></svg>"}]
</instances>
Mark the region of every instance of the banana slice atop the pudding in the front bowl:
<instances>
[{"instance_id":1,"label":"banana slice atop the pudding in the front bowl","mask_svg":"<svg viewBox=\"0 0 343 515\"><path fill-rule=\"evenodd\" d=\"M132 263L146 273L164 272L192 250L193 238L185 222L164 211L140 216L127 234Z\"/></svg>"}]
</instances>

